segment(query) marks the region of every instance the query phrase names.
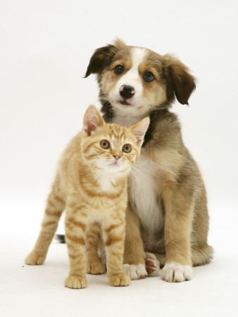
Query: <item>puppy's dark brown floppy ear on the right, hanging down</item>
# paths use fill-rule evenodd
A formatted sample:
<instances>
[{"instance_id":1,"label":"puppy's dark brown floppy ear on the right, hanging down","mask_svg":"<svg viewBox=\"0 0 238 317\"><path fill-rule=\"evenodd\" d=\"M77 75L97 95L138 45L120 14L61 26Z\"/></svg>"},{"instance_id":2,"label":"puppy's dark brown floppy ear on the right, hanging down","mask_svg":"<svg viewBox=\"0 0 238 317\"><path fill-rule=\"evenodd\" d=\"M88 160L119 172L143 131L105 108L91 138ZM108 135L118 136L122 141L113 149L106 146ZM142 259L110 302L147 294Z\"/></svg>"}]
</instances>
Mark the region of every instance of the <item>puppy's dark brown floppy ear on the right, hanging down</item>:
<instances>
[{"instance_id":1,"label":"puppy's dark brown floppy ear on the right, hanging down","mask_svg":"<svg viewBox=\"0 0 238 317\"><path fill-rule=\"evenodd\" d=\"M164 58L168 67L170 88L173 89L180 104L188 105L189 97L196 88L195 77L189 73L189 68L179 59L169 54L165 55Z\"/></svg>"}]
</instances>

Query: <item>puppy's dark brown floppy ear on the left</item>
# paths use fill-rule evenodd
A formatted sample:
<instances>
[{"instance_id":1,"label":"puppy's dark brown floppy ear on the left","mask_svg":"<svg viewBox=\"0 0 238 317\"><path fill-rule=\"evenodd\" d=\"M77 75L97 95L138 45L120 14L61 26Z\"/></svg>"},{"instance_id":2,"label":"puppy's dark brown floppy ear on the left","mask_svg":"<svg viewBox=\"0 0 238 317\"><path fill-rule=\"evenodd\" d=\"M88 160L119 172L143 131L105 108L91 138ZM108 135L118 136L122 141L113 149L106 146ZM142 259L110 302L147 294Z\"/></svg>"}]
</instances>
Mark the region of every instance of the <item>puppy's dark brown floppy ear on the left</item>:
<instances>
[{"instance_id":1,"label":"puppy's dark brown floppy ear on the left","mask_svg":"<svg viewBox=\"0 0 238 317\"><path fill-rule=\"evenodd\" d=\"M115 46L111 44L96 49L90 58L89 66L87 66L87 72L84 78L88 77L92 73L101 73L104 67L111 62L114 54Z\"/></svg>"}]
</instances>

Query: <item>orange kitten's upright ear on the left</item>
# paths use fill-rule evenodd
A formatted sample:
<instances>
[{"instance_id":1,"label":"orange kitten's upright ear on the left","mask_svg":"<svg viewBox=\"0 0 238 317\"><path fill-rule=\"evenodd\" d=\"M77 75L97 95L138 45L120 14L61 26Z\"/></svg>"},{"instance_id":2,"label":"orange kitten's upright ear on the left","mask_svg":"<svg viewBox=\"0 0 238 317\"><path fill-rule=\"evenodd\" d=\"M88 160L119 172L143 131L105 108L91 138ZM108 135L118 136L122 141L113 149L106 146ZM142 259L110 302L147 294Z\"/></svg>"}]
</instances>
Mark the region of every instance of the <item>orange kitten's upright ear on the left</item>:
<instances>
[{"instance_id":1,"label":"orange kitten's upright ear on the left","mask_svg":"<svg viewBox=\"0 0 238 317\"><path fill-rule=\"evenodd\" d=\"M104 125L104 119L95 106L89 106L84 113L82 133L86 136L92 134L97 128Z\"/></svg>"}]
</instances>

